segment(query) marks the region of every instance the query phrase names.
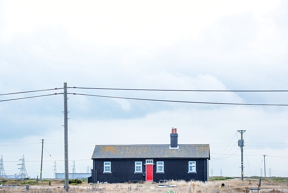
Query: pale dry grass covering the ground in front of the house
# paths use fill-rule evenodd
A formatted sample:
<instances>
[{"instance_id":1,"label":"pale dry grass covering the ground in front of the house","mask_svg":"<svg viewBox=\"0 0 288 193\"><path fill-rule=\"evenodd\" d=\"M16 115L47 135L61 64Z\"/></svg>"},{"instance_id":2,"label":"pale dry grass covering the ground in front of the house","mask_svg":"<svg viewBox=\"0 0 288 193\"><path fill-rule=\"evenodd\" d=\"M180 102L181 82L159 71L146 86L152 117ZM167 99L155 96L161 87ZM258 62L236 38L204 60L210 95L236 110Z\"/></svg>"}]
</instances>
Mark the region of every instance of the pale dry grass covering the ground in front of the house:
<instances>
[{"instance_id":1,"label":"pale dry grass covering the ground in front of the house","mask_svg":"<svg viewBox=\"0 0 288 193\"><path fill-rule=\"evenodd\" d=\"M44 183L44 182L43 182ZM222 183L228 188L219 188ZM177 187L170 188L159 188L158 184L94 184L90 185L86 183L79 185L69 185L69 192L189 192L189 193L249 193L249 188L257 188L258 180L251 180L251 185L249 185L249 180L241 181L240 179L223 180L223 181L209 181L203 183L202 181L168 181L165 184L177 185ZM229 187L230 185L230 187ZM65 192L64 184L60 180L53 180L51 186L48 184L44 185L31 185L29 188L30 193L52 193L52 192ZM0 192L23 192L25 191L25 185L22 187L15 188L0 188ZM274 181L262 181L261 192L265 193L282 193L288 192L286 183L276 183ZM257 191L253 191L257 193Z\"/></svg>"}]
</instances>

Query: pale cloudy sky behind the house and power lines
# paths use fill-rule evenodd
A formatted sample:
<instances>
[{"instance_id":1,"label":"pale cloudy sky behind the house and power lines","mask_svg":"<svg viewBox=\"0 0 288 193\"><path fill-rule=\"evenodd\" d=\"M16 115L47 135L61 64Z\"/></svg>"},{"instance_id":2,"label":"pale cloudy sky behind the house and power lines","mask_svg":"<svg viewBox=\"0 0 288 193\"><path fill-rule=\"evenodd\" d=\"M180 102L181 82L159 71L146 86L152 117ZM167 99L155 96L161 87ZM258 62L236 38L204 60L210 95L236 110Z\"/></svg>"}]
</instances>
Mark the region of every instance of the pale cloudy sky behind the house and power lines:
<instances>
[{"instance_id":1,"label":"pale cloudy sky behind the house and power lines","mask_svg":"<svg viewBox=\"0 0 288 193\"><path fill-rule=\"evenodd\" d=\"M0 1L0 94L61 88L64 82L93 88L288 90L287 8L286 1L275 0ZM254 104L287 104L288 97L285 92L68 92ZM260 175L267 154L266 176L269 168L272 176L288 176L286 106L69 98L69 164L78 160L78 173L92 166L96 144L169 144L174 127L180 144L210 144L211 157L221 158L210 161L214 175L222 168L225 176L241 176L236 133L246 130L244 175ZM64 160L62 111L62 95L0 102L6 173L19 172L24 154L29 176L40 176L44 139L43 177L52 178L54 160ZM57 164L62 172L64 162Z\"/></svg>"}]
</instances>

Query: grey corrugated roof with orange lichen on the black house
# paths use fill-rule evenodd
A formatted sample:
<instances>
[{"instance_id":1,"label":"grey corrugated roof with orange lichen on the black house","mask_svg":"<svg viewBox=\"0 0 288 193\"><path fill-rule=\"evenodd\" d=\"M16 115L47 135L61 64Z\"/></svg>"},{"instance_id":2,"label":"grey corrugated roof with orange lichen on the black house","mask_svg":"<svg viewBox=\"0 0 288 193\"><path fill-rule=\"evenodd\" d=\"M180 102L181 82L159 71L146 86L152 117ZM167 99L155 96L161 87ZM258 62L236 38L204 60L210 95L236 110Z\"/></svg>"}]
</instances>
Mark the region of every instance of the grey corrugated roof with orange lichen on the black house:
<instances>
[{"instance_id":1,"label":"grey corrugated roof with orange lichen on the black house","mask_svg":"<svg viewBox=\"0 0 288 193\"><path fill-rule=\"evenodd\" d=\"M209 158L209 145L95 145L94 158Z\"/></svg>"}]
</instances>

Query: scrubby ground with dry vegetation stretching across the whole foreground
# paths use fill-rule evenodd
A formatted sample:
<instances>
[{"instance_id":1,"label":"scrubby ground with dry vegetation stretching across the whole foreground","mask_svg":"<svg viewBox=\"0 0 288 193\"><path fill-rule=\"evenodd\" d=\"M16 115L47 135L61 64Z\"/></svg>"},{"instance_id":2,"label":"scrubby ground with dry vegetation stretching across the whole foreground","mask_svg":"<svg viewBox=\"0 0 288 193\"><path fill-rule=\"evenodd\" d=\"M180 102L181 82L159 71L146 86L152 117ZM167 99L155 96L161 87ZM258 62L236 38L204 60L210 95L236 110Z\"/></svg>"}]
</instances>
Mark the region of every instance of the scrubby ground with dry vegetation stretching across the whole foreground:
<instances>
[{"instance_id":1,"label":"scrubby ground with dry vegetation stretching across the whole foreground","mask_svg":"<svg viewBox=\"0 0 288 193\"><path fill-rule=\"evenodd\" d=\"M87 179L82 180L71 180L69 183L69 192L189 192L189 193L234 193L242 192L249 193L249 188L258 188L259 177L249 177L241 181L240 178L232 177L211 177L210 181L203 183L202 181L168 181L163 184L177 185L176 187L165 187L159 188L158 183L154 184L127 184L127 183L115 183L115 184L88 184ZM288 178L283 177L269 177L266 180L261 181L261 192L265 193L282 193L288 192L287 180ZM81 183L80 183L81 181ZM51 185L49 185L49 182ZM11 180L11 179L0 179L0 184L3 185L14 185L13 187L0 187L0 192L23 192L25 191L26 184L29 184L29 191L26 192L65 192L64 191L64 180L57 179L42 179L38 181L36 185L35 179L26 180ZM222 184L224 187L219 188ZM249 184L251 183L251 184ZM19 186L15 186L19 185ZM226 187L227 186L227 187ZM226 188L225 188L226 187ZM258 193L253 190L253 193Z\"/></svg>"}]
</instances>

